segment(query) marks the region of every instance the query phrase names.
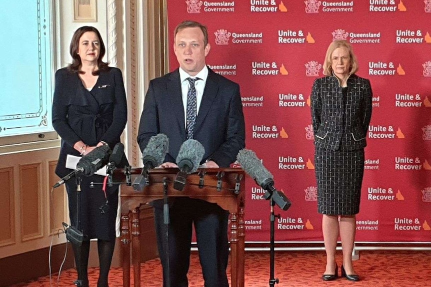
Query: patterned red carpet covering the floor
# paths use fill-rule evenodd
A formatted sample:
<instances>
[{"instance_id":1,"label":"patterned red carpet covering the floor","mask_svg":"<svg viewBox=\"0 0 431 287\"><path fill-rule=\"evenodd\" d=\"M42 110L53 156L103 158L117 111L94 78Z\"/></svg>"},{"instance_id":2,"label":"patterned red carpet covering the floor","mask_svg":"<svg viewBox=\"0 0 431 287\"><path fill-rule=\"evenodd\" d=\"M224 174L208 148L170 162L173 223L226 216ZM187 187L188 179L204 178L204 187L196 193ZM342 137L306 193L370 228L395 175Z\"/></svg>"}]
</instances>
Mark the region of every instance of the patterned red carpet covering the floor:
<instances>
[{"instance_id":1,"label":"patterned red carpet covering the floor","mask_svg":"<svg viewBox=\"0 0 431 287\"><path fill-rule=\"evenodd\" d=\"M245 286L269 286L269 252L248 252L245 254ZM341 253L338 254L341 263ZM197 253L192 253L189 271L189 287L202 287ZM322 282L324 253L318 252L276 252L275 277L279 283L275 287L425 287L431 286L431 252L419 251L361 251L359 260L354 262L355 271L361 281L349 282L338 278L332 282ZM229 269L229 268L228 268ZM338 271L340 272L340 271ZM161 269L157 259L141 265L141 286L161 287ZM230 276L230 272L228 272ZM89 270L90 287L95 287L98 269ZM62 272L57 284L57 275L52 278L53 287L73 286L76 279L74 270ZM133 286L133 279L131 279ZM49 287L49 277L35 282L13 285L13 287ZM122 286L121 268L112 268L109 286Z\"/></svg>"}]
</instances>

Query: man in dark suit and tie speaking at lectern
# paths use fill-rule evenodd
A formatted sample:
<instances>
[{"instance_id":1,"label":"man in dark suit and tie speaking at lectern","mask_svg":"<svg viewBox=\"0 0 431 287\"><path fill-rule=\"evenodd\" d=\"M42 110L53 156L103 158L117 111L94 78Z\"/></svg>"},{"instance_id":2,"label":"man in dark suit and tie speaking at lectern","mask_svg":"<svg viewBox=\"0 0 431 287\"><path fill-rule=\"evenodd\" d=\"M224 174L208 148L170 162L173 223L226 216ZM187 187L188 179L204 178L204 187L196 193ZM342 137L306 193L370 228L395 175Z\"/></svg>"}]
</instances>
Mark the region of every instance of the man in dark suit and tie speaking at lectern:
<instances>
[{"instance_id":1,"label":"man in dark suit and tie speaking at lectern","mask_svg":"<svg viewBox=\"0 0 431 287\"><path fill-rule=\"evenodd\" d=\"M201 163L207 168L228 167L245 146L239 86L206 66L210 44L204 25L178 24L173 50L179 69L149 83L139 123L139 147L142 151L151 136L166 134L169 152L161 167L177 167L174 162L181 144L192 138L205 148ZM162 206L153 206L163 286L167 287L168 279L171 287L188 286L194 224L205 287L228 287L228 212L203 200L176 198L169 208L167 246Z\"/></svg>"}]
</instances>

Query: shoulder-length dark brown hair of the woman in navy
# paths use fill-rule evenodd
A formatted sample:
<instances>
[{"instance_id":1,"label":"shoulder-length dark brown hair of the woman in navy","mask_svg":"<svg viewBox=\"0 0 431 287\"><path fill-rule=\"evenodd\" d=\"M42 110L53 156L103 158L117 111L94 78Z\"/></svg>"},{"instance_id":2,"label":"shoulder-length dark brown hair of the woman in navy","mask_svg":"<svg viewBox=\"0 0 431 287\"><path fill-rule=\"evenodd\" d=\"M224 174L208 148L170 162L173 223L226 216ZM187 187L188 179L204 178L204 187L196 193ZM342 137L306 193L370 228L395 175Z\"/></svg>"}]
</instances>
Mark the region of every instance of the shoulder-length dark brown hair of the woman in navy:
<instances>
[{"instance_id":1,"label":"shoulder-length dark brown hair of the woman in navy","mask_svg":"<svg viewBox=\"0 0 431 287\"><path fill-rule=\"evenodd\" d=\"M93 26L82 26L80 28L77 28L76 31L73 33L72 40L70 41L70 48L69 48L70 55L72 56L72 62L70 65L67 66L67 69L73 73L80 72L79 68L82 63L81 63L81 58L78 55L79 39L85 32L94 32L99 38L100 53L99 53L99 57L97 58L98 70L93 72L93 74L97 75L99 71L108 69L108 63L105 63L102 61L102 58L105 54L105 45L103 44L103 40L99 31Z\"/></svg>"}]
</instances>

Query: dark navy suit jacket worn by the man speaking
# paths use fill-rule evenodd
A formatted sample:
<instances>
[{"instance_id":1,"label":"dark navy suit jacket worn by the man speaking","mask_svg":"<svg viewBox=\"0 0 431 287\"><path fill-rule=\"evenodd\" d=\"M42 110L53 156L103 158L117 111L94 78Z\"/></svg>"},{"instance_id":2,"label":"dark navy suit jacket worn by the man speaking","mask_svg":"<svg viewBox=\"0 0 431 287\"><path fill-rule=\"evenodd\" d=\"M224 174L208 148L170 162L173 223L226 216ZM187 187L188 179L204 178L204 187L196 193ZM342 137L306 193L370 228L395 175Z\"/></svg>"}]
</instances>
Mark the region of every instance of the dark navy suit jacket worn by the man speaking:
<instances>
[{"instance_id":1,"label":"dark navy suit jacket worn by the man speaking","mask_svg":"<svg viewBox=\"0 0 431 287\"><path fill-rule=\"evenodd\" d=\"M137 136L140 150L158 133L169 139L165 162L175 162L179 147L186 140L178 69L149 83ZM210 159L220 167L234 162L238 151L245 146L239 85L209 68L193 139L205 148L202 162Z\"/></svg>"}]
</instances>

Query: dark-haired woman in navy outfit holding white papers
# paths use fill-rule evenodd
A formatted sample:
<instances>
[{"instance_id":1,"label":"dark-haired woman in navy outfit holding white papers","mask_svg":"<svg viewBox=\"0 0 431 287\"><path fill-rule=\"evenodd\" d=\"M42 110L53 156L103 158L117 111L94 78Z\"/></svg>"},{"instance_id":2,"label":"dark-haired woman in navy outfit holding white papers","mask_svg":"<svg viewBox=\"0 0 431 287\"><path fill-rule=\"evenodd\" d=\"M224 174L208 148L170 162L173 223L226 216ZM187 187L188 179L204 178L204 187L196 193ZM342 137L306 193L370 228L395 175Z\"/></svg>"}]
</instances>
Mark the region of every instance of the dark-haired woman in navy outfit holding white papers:
<instances>
[{"instance_id":1,"label":"dark-haired woman in navy outfit holding white papers","mask_svg":"<svg viewBox=\"0 0 431 287\"><path fill-rule=\"evenodd\" d=\"M105 47L98 30L91 26L78 28L70 43L73 60L55 73L52 103L52 125L61 137L61 148L55 173L63 177L67 155L87 155L97 146L113 146L127 121L127 105L121 71L102 61ZM88 286L87 265L89 240L97 239L100 275L98 287L107 287L107 278L115 245L115 219L118 186L101 185L89 188L89 183L102 182L103 177L78 177L81 187L79 208L75 180L65 183L70 225L81 230L84 241L73 245L78 272L78 286ZM77 220L78 218L78 220Z\"/></svg>"}]
</instances>

